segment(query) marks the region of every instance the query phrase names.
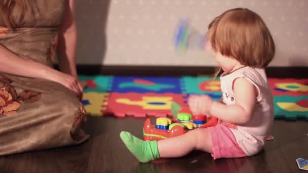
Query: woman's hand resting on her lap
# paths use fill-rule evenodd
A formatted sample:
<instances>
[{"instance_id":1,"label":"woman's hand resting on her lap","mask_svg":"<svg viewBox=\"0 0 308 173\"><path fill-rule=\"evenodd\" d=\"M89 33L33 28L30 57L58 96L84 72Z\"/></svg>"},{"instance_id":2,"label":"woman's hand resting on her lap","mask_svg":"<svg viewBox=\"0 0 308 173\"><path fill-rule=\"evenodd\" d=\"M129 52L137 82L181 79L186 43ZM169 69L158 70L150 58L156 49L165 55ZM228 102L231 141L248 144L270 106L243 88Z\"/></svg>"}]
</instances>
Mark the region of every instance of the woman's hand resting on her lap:
<instances>
[{"instance_id":1,"label":"woman's hand resting on her lap","mask_svg":"<svg viewBox=\"0 0 308 173\"><path fill-rule=\"evenodd\" d=\"M54 74L50 80L53 80L55 82L61 83L66 88L70 89L74 92L75 96L82 100L83 98L83 87L81 85L81 82L78 80L78 78L62 73L60 71L57 71L56 74Z\"/></svg>"}]
</instances>

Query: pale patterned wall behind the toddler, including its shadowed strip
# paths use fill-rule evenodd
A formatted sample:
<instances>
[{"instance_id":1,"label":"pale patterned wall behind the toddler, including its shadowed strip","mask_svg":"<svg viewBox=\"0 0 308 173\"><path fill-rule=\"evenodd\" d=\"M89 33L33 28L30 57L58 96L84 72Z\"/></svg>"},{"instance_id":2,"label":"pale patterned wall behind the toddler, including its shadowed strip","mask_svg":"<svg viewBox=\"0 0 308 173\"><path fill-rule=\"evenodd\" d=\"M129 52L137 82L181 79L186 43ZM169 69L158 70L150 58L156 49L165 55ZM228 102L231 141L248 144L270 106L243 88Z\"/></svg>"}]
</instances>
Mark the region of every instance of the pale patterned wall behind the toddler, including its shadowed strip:
<instances>
[{"instance_id":1,"label":"pale patterned wall behind the toddler, including its shadowed strip","mask_svg":"<svg viewBox=\"0 0 308 173\"><path fill-rule=\"evenodd\" d=\"M105 65L216 65L204 51L179 55L173 36L186 17L200 32L228 9L258 13L270 28L276 56L272 66L308 66L308 1L88 0L76 1L78 63Z\"/></svg>"}]
</instances>

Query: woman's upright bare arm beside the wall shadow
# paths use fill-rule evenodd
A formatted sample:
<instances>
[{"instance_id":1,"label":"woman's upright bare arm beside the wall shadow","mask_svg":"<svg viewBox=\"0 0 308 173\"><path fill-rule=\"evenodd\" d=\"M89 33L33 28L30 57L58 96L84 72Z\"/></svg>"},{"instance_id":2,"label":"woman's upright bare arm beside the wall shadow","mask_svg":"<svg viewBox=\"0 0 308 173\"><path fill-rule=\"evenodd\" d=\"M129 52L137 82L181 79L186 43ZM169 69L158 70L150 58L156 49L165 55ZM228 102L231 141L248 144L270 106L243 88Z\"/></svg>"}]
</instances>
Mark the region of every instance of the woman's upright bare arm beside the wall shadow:
<instances>
[{"instance_id":1,"label":"woman's upright bare arm beside the wall shadow","mask_svg":"<svg viewBox=\"0 0 308 173\"><path fill-rule=\"evenodd\" d=\"M75 64L77 34L74 13L74 0L66 0L65 16L59 32L57 55L60 70L77 77Z\"/></svg>"}]
</instances>

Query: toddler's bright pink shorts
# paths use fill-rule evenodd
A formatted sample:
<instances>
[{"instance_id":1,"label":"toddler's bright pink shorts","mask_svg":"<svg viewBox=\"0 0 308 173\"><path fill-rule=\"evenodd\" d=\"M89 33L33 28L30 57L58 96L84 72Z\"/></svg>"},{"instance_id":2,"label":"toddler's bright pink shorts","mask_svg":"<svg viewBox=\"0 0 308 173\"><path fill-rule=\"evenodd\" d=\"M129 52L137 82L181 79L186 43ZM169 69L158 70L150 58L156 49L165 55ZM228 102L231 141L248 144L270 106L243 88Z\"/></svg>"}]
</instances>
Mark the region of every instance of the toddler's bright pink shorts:
<instances>
[{"instance_id":1,"label":"toddler's bright pink shorts","mask_svg":"<svg viewBox=\"0 0 308 173\"><path fill-rule=\"evenodd\" d=\"M237 143L233 133L228 127L217 124L208 127L212 136L213 158L236 158L247 156Z\"/></svg>"}]
</instances>

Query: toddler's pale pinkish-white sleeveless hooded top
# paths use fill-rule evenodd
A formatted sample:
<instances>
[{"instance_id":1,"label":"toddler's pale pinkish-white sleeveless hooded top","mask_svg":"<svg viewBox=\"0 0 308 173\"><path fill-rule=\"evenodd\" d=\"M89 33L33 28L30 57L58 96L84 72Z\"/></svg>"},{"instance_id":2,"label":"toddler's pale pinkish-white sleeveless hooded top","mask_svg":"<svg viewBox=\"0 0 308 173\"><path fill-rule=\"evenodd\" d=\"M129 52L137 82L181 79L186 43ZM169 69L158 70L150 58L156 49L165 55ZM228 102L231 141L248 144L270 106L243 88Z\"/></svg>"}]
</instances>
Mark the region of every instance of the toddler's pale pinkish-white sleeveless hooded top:
<instances>
[{"instance_id":1,"label":"toddler's pale pinkish-white sleeveless hooded top","mask_svg":"<svg viewBox=\"0 0 308 173\"><path fill-rule=\"evenodd\" d=\"M222 73L220 76L222 100L226 105L236 104L233 83L239 77L244 77L256 86L257 102L249 122L228 127L246 155L251 156L262 149L270 133L274 121L274 101L271 88L267 84L265 70L243 67L230 74Z\"/></svg>"}]
</instances>

